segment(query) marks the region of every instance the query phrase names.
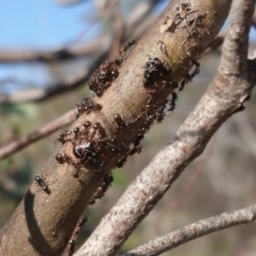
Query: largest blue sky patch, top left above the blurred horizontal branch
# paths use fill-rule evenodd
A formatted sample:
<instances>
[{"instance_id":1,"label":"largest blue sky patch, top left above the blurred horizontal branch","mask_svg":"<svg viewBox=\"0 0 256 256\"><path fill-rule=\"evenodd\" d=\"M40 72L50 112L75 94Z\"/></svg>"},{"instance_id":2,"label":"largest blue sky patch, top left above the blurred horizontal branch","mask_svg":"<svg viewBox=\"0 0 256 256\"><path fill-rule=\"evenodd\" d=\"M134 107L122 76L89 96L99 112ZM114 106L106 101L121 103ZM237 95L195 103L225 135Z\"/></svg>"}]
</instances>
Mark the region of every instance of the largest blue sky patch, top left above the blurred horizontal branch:
<instances>
[{"instance_id":1,"label":"largest blue sky patch, top left above the blurred horizontal branch","mask_svg":"<svg viewBox=\"0 0 256 256\"><path fill-rule=\"evenodd\" d=\"M93 1L68 7L51 0L2 0L0 46L58 48L77 37L93 15Z\"/></svg>"}]
</instances>

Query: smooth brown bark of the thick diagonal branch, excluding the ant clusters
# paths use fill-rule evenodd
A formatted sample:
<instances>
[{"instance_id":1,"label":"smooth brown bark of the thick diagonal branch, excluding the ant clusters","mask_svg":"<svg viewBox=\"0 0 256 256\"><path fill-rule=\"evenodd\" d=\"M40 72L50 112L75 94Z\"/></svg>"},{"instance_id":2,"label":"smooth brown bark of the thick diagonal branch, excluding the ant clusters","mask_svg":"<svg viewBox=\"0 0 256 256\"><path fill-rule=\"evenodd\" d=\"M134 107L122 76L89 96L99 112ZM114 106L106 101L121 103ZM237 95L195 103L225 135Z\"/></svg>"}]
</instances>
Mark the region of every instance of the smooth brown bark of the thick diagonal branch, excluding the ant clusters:
<instances>
[{"instance_id":1,"label":"smooth brown bark of the thick diagonal branch, excluding the ant clusters","mask_svg":"<svg viewBox=\"0 0 256 256\"><path fill-rule=\"evenodd\" d=\"M195 12L192 15L204 16L203 25L195 24L196 32L188 32L186 26L169 32L167 26L178 6L179 1L172 1L168 5L120 68L115 84L101 98L96 98L96 102L102 104L102 110L83 115L71 125L70 131L82 125L84 120L90 120L92 123L100 122L111 137L115 130L113 114L119 113L127 121L138 113L143 113L151 97L143 86L143 71L148 55L166 61L172 67L172 79L183 79L189 69L190 57L187 52L197 58L207 49L228 15L230 0L195 1L192 5ZM160 40L164 43L161 45L166 46L167 55L160 49ZM161 90L155 96L155 102L164 102L171 92L172 88ZM142 124L137 123L132 129L127 128L117 136L119 142L130 145L141 127ZM64 144L44 166L43 174L51 193L47 195L38 189L36 183L32 184L24 200L0 232L1 255L59 255L63 251L79 217L103 178L102 174L91 170L91 166L84 168L79 178L75 178L72 175L73 166L56 164L55 154L73 155L72 150L70 143ZM108 165L104 167L104 172L109 173L116 166L119 156L106 152L105 157Z\"/></svg>"}]
</instances>

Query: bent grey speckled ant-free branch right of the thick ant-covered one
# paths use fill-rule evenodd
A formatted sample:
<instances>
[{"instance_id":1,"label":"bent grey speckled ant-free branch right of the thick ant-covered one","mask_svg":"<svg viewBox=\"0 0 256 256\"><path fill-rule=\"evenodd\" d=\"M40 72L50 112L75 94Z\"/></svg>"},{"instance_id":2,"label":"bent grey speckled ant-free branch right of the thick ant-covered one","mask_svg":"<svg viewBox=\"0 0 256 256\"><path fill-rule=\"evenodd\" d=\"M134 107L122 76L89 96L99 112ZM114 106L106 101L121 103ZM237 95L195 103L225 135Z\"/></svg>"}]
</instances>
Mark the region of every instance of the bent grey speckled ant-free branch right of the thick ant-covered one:
<instances>
[{"instance_id":1,"label":"bent grey speckled ant-free branch right of the thick ant-covered one","mask_svg":"<svg viewBox=\"0 0 256 256\"><path fill-rule=\"evenodd\" d=\"M255 84L255 72L252 70L255 66L252 67L252 62L247 61L247 40L254 3L234 1L229 31L224 40L226 51L219 72L206 94L177 131L177 136L154 157L118 203L102 218L101 224L76 256L88 253L113 255L184 168L202 153L218 127L233 113L244 108L243 103L248 100ZM203 3L196 1L195 4ZM214 4L217 5L216 2Z\"/></svg>"}]
</instances>

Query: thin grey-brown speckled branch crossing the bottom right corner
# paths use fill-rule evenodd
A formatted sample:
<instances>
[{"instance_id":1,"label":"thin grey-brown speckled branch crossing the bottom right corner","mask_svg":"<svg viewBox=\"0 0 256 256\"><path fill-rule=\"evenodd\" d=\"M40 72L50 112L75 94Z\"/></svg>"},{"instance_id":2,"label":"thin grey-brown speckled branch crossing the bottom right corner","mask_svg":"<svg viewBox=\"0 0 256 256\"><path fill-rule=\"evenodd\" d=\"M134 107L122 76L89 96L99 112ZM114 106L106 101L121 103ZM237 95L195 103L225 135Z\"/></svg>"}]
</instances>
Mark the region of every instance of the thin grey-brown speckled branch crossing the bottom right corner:
<instances>
[{"instance_id":1,"label":"thin grey-brown speckled branch crossing the bottom right corner","mask_svg":"<svg viewBox=\"0 0 256 256\"><path fill-rule=\"evenodd\" d=\"M123 256L158 256L198 237L206 236L238 224L247 224L254 221L255 218L256 205L234 212L224 212L214 217L201 219L198 222L185 226L183 229L175 230L166 236L160 236L123 254Z\"/></svg>"}]
</instances>

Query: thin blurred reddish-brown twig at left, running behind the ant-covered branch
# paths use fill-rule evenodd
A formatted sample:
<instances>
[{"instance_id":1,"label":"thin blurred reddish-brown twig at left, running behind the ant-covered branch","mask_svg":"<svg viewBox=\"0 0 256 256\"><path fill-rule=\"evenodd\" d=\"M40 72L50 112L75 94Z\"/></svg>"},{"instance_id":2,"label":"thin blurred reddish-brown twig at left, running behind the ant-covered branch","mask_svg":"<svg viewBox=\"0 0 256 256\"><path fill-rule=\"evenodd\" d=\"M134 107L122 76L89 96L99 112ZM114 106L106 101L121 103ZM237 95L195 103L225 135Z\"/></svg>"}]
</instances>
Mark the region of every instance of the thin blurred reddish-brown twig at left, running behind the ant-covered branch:
<instances>
[{"instance_id":1,"label":"thin blurred reddish-brown twig at left, running behind the ant-covered branch","mask_svg":"<svg viewBox=\"0 0 256 256\"><path fill-rule=\"evenodd\" d=\"M49 122L47 125L44 125L38 129L38 131L33 131L31 134L21 137L13 143L9 143L6 146L0 148L0 160L3 160L9 157L12 154L20 151L23 148L26 148L30 144L38 141L43 137L49 136L51 133L58 131L61 127L69 125L74 121L76 116L75 110L70 110L67 113L61 115L58 119Z\"/></svg>"}]
</instances>

